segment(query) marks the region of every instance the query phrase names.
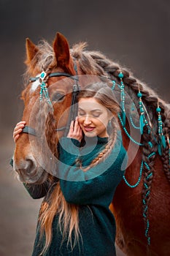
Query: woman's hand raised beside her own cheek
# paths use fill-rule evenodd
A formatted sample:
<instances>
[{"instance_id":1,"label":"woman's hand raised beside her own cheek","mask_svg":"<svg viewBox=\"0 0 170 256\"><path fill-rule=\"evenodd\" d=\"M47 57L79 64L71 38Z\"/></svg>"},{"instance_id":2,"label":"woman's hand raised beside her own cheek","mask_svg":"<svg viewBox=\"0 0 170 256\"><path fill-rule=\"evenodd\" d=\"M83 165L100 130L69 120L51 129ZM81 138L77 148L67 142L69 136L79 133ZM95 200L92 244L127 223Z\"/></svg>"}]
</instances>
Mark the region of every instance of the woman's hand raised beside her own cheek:
<instances>
[{"instance_id":1,"label":"woman's hand raised beside her own cheek","mask_svg":"<svg viewBox=\"0 0 170 256\"><path fill-rule=\"evenodd\" d=\"M69 133L67 138L72 138L81 141L82 140L82 129L76 118L75 121L72 121L69 128Z\"/></svg>"}]
</instances>

